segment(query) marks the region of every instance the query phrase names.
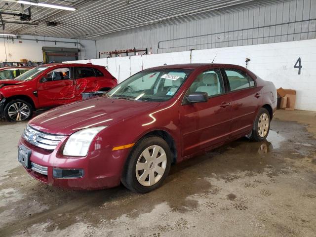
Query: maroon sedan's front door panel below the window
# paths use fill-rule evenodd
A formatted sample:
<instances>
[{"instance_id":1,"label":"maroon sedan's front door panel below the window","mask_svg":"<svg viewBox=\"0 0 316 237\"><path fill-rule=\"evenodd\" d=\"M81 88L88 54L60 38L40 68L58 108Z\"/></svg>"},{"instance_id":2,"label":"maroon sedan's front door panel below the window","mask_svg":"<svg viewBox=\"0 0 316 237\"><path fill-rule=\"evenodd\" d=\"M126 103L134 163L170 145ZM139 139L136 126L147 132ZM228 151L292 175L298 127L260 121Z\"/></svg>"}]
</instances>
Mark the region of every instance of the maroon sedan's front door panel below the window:
<instances>
[{"instance_id":1,"label":"maroon sedan's front door panel below the window","mask_svg":"<svg viewBox=\"0 0 316 237\"><path fill-rule=\"evenodd\" d=\"M210 98L205 103L181 106L183 156L202 151L229 139L231 106L228 103L230 101L230 95L224 94Z\"/></svg>"}]
</instances>

